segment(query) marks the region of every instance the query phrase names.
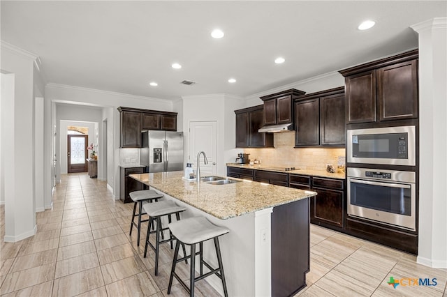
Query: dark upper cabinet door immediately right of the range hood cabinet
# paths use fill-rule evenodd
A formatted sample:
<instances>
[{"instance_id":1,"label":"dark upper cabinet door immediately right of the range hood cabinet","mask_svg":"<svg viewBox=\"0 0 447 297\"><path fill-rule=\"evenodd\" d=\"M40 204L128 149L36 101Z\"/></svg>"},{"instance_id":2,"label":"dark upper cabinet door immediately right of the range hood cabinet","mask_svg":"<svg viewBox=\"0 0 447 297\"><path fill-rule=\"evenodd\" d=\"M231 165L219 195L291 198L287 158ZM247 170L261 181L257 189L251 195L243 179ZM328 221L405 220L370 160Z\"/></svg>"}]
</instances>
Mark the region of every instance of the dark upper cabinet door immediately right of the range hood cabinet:
<instances>
[{"instance_id":1,"label":"dark upper cabinet door immediately right of the range hood cabinet","mask_svg":"<svg viewBox=\"0 0 447 297\"><path fill-rule=\"evenodd\" d=\"M319 99L295 102L295 146L320 144Z\"/></svg>"}]
</instances>

